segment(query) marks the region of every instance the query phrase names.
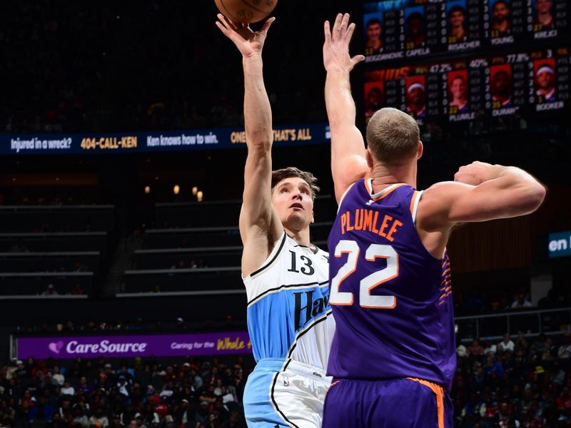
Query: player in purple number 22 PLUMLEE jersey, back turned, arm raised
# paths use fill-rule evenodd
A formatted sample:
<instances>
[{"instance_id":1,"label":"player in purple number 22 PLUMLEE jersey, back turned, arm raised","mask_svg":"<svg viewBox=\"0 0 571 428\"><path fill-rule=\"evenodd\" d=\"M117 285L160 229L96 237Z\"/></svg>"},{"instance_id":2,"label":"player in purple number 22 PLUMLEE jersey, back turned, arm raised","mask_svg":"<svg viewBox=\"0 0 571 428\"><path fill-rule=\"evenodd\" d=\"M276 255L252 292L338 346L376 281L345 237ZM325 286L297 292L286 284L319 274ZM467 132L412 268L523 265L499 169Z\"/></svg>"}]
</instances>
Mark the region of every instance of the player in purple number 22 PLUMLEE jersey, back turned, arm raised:
<instances>
[{"instance_id":1,"label":"player in purple number 22 PLUMLEE jersey, back turned, arm raised","mask_svg":"<svg viewBox=\"0 0 571 428\"><path fill-rule=\"evenodd\" d=\"M355 127L349 74L355 29L325 22L325 103L338 215L329 235L337 323L323 427L453 427L452 288L446 244L454 225L536 210L545 188L518 168L475 162L455 180L416 190L423 154L413 118L382 108L368 148Z\"/></svg>"}]
</instances>

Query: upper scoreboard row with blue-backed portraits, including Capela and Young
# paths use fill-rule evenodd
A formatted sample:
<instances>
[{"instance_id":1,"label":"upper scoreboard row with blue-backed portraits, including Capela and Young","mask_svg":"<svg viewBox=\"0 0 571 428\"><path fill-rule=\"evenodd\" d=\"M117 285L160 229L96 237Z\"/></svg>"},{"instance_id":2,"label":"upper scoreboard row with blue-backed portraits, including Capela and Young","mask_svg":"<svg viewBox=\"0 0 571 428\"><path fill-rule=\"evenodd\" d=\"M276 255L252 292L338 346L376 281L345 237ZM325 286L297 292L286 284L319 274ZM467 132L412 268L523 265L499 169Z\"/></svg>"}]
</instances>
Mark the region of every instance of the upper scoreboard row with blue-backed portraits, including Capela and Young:
<instances>
[{"instance_id":1,"label":"upper scoreboard row with blue-backed portraits, including Capela and Young","mask_svg":"<svg viewBox=\"0 0 571 428\"><path fill-rule=\"evenodd\" d=\"M571 34L567 0L384 0L363 6L368 63L521 46Z\"/></svg>"}]
</instances>

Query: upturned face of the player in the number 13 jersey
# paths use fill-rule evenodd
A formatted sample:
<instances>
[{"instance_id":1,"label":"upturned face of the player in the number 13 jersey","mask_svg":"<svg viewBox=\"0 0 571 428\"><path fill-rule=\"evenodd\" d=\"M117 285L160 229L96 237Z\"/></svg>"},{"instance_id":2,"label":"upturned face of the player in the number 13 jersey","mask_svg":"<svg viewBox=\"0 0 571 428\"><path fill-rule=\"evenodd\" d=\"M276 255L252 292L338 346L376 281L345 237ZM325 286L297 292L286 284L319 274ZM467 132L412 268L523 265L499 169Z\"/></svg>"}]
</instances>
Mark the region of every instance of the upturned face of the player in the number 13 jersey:
<instances>
[{"instance_id":1,"label":"upturned face of the player in the number 13 jersey","mask_svg":"<svg viewBox=\"0 0 571 428\"><path fill-rule=\"evenodd\" d=\"M301 230L313 221L311 188L302 178L284 178L273 189L272 203L283 225Z\"/></svg>"}]
</instances>

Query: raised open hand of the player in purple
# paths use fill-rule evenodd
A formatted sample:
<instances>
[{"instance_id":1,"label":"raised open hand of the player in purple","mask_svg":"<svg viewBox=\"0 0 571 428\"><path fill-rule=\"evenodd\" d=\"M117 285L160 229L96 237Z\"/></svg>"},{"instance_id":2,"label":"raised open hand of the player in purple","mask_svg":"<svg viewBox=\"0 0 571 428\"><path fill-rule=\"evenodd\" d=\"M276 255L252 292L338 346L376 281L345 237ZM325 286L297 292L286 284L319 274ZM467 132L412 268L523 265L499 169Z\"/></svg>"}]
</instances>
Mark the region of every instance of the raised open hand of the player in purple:
<instances>
[{"instance_id":1,"label":"raised open hand of the player in purple","mask_svg":"<svg viewBox=\"0 0 571 428\"><path fill-rule=\"evenodd\" d=\"M337 14L333 31L329 21L325 21L325 43L323 44L323 65L326 71L351 71L353 67L365 60L363 55L349 55L349 44L355 31L355 23L349 24L349 14Z\"/></svg>"}]
</instances>

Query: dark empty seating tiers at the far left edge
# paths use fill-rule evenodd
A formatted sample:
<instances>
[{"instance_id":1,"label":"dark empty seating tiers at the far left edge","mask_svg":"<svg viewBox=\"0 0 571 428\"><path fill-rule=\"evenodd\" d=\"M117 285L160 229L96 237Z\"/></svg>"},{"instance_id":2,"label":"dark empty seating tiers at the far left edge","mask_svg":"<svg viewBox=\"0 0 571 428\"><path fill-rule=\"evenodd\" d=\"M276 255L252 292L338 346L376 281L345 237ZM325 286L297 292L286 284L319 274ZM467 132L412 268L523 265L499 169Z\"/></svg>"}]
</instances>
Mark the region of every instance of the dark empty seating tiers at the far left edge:
<instances>
[{"instance_id":1,"label":"dark empty seating tiers at the far left edge","mask_svg":"<svg viewBox=\"0 0 571 428\"><path fill-rule=\"evenodd\" d=\"M0 295L91 295L108 267L113 216L113 205L0 207Z\"/></svg>"}]
</instances>

